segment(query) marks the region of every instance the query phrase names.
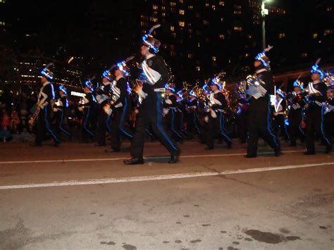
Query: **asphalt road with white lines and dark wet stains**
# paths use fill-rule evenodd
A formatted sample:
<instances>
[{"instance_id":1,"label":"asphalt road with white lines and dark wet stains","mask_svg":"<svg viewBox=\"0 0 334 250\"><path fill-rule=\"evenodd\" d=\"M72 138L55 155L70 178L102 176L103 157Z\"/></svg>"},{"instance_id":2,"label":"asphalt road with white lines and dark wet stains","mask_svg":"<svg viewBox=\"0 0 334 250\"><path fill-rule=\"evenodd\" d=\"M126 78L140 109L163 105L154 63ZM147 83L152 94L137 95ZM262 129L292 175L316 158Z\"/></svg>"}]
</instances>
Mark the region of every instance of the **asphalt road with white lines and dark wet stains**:
<instances>
[{"instance_id":1,"label":"asphalt road with white lines and dark wet stains","mask_svg":"<svg viewBox=\"0 0 334 250\"><path fill-rule=\"evenodd\" d=\"M147 143L144 165L92 144L0 146L0 249L333 249L334 154L261 146L204 151L185 142L170 165Z\"/></svg>"}]
</instances>

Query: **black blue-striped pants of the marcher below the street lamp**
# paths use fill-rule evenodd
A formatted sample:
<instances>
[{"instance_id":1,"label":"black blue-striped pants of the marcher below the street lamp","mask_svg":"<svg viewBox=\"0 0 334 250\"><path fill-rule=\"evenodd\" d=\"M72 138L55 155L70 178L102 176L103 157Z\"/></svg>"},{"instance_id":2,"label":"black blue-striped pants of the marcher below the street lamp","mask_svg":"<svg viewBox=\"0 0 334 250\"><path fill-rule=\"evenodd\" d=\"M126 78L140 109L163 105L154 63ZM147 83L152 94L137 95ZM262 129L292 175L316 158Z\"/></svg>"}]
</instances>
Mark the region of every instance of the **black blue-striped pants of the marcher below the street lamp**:
<instances>
[{"instance_id":1,"label":"black blue-striped pants of the marcher below the street lamp","mask_svg":"<svg viewBox=\"0 0 334 250\"><path fill-rule=\"evenodd\" d=\"M271 106L269 96L252 98L248 109L247 155L256 156L259 137L263 138L273 149L280 144L271 130Z\"/></svg>"}]
</instances>

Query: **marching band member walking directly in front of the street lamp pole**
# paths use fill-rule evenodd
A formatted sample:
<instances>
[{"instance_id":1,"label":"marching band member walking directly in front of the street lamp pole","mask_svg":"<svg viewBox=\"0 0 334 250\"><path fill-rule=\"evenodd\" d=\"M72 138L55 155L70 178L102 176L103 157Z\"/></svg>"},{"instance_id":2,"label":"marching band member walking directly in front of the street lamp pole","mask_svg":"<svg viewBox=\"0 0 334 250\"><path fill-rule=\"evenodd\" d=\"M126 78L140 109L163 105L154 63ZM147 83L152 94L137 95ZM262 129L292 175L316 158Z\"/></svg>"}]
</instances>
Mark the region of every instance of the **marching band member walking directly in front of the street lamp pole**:
<instances>
[{"instance_id":1,"label":"marching band member walking directly in front of the street lamp pole","mask_svg":"<svg viewBox=\"0 0 334 250\"><path fill-rule=\"evenodd\" d=\"M247 89L247 94L251 96L251 99L248 108L248 140L245 158L256 157L259 136L274 149L276 156L281 154L280 144L271 130L270 95L274 92L274 85L273 76L268 71L269 59L266 56L266 52L271 48L268 46L256 56L254 61L256 80L254 85Z\"/></svg>"}]
</instances>

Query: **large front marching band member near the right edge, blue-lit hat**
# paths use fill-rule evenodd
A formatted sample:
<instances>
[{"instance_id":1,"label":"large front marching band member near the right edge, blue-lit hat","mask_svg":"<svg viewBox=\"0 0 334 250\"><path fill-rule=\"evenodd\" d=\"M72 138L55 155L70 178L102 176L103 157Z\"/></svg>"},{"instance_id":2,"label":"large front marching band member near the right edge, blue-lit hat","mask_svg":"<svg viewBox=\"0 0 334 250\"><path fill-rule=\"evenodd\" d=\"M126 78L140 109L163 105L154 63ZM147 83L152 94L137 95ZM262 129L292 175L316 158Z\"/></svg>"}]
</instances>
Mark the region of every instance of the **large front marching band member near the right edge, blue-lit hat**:
<instances>
[{"instance_id":1,"label":"large front marching band member near the right edge, blue-lit hat","mask_svg":"<svg viewBox=\"0 0 334 250\"><path fill-rule=\"evenodd\" d=\"M326 102L327 86L322 82L323 70L319 67L320 59L316 61L316 64L311 68L311 80L307 87L308 92L308 106L307 106L307 133L306 133L306 146L307 151L305 155L316 154L316 148L314 146L314 137L318 135L326 145L326 154L330 154L332 150L332 143L326 135L326 131L323 127L323 113L325 111L324 102Z\"/></svg>"}]
</instances>

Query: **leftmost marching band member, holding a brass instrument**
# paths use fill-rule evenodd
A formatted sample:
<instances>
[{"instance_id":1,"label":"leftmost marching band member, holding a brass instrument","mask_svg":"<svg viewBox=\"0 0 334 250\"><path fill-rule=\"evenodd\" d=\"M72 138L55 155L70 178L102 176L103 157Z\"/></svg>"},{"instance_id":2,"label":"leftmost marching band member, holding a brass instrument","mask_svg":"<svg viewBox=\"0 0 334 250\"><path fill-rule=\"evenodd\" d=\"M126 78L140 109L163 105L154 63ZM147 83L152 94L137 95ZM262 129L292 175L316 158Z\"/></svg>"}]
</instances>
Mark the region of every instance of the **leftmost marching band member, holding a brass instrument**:
<instances>
[{"instance_id":1,"label":"leftmost marching band member, holding a brass instrument","mask_svg":"<svg viewBox=\"0 0 334 250\"><path fill-rule=\"evenodd\" d=\"M30 144L30 146L42 146L45 132L47 132L54 140L53 146L58 146L60 143L58 137L56 137L56 133L51 127L50 114L55 98L54 85L51 84L51 80L54 78L54 73L49 70L51 65L53 64L49 63L49 65L41 71L42 87L39 90L37 102L38 115L36 120L36 138L35 142Z\"/></svg>"}]
</instances>

